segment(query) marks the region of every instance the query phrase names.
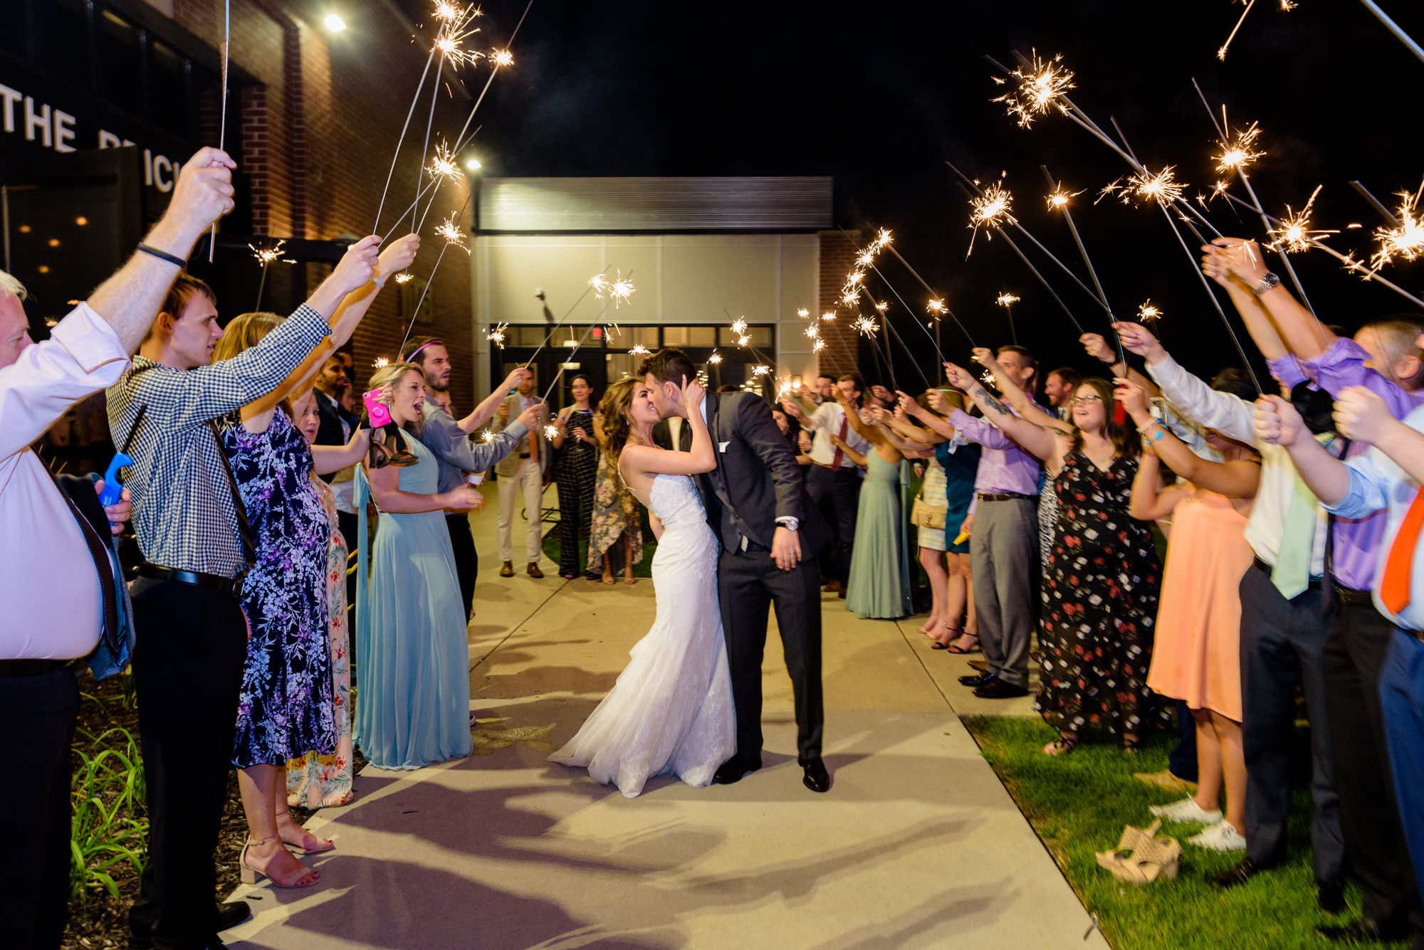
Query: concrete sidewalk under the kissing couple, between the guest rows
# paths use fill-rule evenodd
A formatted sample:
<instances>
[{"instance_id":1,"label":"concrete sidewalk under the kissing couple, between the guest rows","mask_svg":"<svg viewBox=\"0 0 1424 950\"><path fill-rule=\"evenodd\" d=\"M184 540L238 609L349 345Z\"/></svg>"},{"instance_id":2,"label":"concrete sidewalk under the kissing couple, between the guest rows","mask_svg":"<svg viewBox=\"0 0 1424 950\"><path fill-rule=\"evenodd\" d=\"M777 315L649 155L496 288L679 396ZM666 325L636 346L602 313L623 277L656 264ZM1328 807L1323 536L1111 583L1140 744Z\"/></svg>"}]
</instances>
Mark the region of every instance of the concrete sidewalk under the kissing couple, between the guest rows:
<instances>
[{"instance_id":1,"label":"concrete sidewalk under the kissing couple, between the guest rows","mask_svg":"<svg viewBox=\"0 0 1424 950\"><path fill-rule=\"evenodd\" d=\"M312 859L322 882L241 887L256 914L232 946L1106 946L960 722L965 658L914 620L823 602L826 795L800 782L775 620L760 772L625 799L548 764L646 633L652 583L562 582L547 562L544 580L500 579L494 495L473 519L477 754L365 769L356 802L310 825L336 840Z\"/></svg>"}]
</instances>

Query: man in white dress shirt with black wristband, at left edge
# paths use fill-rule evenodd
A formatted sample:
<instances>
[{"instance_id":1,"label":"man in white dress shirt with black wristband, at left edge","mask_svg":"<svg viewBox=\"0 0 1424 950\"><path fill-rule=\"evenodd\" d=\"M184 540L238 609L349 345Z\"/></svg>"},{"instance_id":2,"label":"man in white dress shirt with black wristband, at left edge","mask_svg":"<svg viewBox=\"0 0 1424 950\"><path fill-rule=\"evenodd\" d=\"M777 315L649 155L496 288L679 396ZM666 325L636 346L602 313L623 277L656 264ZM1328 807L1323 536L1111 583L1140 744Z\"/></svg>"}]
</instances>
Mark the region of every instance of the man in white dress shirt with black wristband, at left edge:
<instances>
[{"instance_id":1,"label":"man in white dress shirt with black wristband, at left edge","mask_svg":"<svg viewBox=\"0 0 1424 950\"><path fill-rule=\"evenodd\" d=\"M216 149L194 155L141 253L44 343L28 337L24 287L0 272L0 761L9 769L0 812L13 818L10 853L0 862L6 946L58 947L64 934L75 673L98 644L112 596L104 592L95 539L30 444L128 368L178 273L172 259L181 262L232 209L231 168ZM107 513L125 521L127 501Z\"/></svg>"}]
</instances>

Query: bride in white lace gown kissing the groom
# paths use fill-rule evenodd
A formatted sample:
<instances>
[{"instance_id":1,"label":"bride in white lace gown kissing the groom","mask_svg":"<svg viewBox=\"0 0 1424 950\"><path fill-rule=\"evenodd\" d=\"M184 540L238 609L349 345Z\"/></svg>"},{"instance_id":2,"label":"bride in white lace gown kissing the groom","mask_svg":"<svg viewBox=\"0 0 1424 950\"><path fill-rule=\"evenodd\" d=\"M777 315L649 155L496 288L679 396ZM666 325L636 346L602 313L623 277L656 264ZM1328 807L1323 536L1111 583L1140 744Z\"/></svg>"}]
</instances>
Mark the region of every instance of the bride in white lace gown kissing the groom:
<instances>
[{"instance_id":1,"label":"bride in white lace gown kissing the groom","mask_svg":"<svg viewBox=\"0 0 1424 950\"><path fill-rule=\"evenodd\" d=\"M736 752L736 712L716 597L718 540L708 526L692 476L716 468L699 411L706 395L684 381L692 449L652 444L661 418L642 380L609 387L602 402L604 451L634 498L648 508L658 552L652 587L658 616L629 651L618 676L568 745L550 761L582 767L628 798L649 775L674 774L692 786L712 781Z\"/></svg>"}]
</instances>

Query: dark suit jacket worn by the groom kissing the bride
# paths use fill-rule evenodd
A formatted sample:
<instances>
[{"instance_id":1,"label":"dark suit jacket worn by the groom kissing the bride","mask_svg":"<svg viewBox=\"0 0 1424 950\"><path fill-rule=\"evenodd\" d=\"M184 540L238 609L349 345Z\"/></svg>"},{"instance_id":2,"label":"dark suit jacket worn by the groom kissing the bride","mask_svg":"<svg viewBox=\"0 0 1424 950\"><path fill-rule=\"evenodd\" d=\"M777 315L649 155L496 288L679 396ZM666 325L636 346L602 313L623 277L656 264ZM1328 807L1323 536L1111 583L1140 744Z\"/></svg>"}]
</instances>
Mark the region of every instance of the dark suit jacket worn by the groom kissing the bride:
<instances>
[{"instance_id":1,"label":"dark suit jacket worn by the groom kissing the bride","mask_svg":"<svg viewBox=\"0 0 1424 950\"><path fill-rule=\"evenodd\" d=\"M698 491L722 548L739 550L745 535L770 549L776 519L789 515L800 522L802 560L815 557L830 540L830 528L806 495L800 465L766 400L708 393L706 411L718 464L698 476Z\"/></svg>"}]
</instances>

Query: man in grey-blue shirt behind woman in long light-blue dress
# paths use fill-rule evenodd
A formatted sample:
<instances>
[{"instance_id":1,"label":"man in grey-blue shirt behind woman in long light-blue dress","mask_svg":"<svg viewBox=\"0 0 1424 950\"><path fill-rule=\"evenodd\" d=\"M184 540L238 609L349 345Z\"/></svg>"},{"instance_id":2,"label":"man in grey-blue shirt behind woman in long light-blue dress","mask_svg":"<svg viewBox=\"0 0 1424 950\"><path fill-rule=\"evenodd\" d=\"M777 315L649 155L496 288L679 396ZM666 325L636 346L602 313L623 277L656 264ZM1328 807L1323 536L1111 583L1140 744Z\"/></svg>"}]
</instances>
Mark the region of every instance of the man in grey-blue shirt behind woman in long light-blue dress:
<instances>
[{"instance_id":1,"label":"man in grey-blue shirt behind woman in long light-blue dress","mask_svg":"<svg viewBox=\"0 0 1424 950\"><path fill-rule=\"evenodd\" d=\"M457 421L450 410L439 402L440 397L446 400L450 397L450 351L444 343L434 337L412 337L403 347L402 360L419 365L424 377L426 404L422 410L420 442L439 459L440 492L453 492L466 484L468 474L484 472L514 452L518 439L507 432L494 431L478 442L471 442L470 434L490 421L506 393L528 383L531 378L528 370L524 367L511 370L504 383L484 397L473 412ZM503 491L500 498L504 498ZM513 513L513 508L510 511ZM470 516L464 512L446 512L446 529L450 532L450 549L454 552L456 575L460 577L460 602L468 619L474 616L474 583L480 573L480 555L470 533Z\"/></svg>"}]
</instances>

